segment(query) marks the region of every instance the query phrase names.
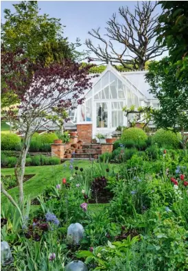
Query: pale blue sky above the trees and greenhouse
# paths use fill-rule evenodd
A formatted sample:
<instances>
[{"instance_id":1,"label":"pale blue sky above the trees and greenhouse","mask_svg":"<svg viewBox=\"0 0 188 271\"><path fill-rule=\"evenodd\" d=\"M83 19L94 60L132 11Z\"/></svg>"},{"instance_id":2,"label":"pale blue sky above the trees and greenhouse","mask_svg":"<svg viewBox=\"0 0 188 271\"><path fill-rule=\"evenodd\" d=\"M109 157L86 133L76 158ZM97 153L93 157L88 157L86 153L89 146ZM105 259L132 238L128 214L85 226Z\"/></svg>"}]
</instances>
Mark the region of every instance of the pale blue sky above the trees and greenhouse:
<instances>
[{"instance_id":1,"label":"pale blue sky above the trees and greenhouse","mask_svg":"<svg viewBox=\"0 0 188 271\"><path fill-rule=\"evenodd\" d=\"M3 10L8 8L13 12L14 3L19 1L1 1L2 22ZM83 44L81 49L87 49L84 43L86 38L90 38L88 34L90 30L101 27L101 34L105 34L106 21L113 13L118 13L119 7L127 5L130 10L134 10L136 4L137 1L38 1L40 13L61 19L62 25L66 25L64 36L67 36L71 43L74 43L76 38L80 38ZM161 13L160 6L157 6L156 12ZM95 42L94 44L97 45Z\"/></svg>"}]
</instances>

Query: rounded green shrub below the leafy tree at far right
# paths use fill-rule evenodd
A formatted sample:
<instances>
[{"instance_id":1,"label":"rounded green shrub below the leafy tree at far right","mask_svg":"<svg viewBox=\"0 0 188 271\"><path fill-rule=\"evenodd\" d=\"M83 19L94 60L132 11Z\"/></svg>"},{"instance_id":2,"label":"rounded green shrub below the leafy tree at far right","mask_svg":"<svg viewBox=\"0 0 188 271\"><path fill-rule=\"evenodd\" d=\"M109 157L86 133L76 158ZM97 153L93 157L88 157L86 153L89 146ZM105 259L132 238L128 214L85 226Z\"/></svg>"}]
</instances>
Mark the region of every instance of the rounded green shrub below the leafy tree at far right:
<instances>
[{"instance_id":1,"label":"rounded green shrub below the leafy tree at far right","mask_svg":"<svg viewBox=\"0 0 188 271\"><path fill-rule=\"evenodd\" d=\"M180 148L180 134L175 134L170 130L163 130L159 129L156 133L152 136L152 143L157 143L158 147L165 147L166 145L169 148Z\"/></svg>"}]
</instances>

